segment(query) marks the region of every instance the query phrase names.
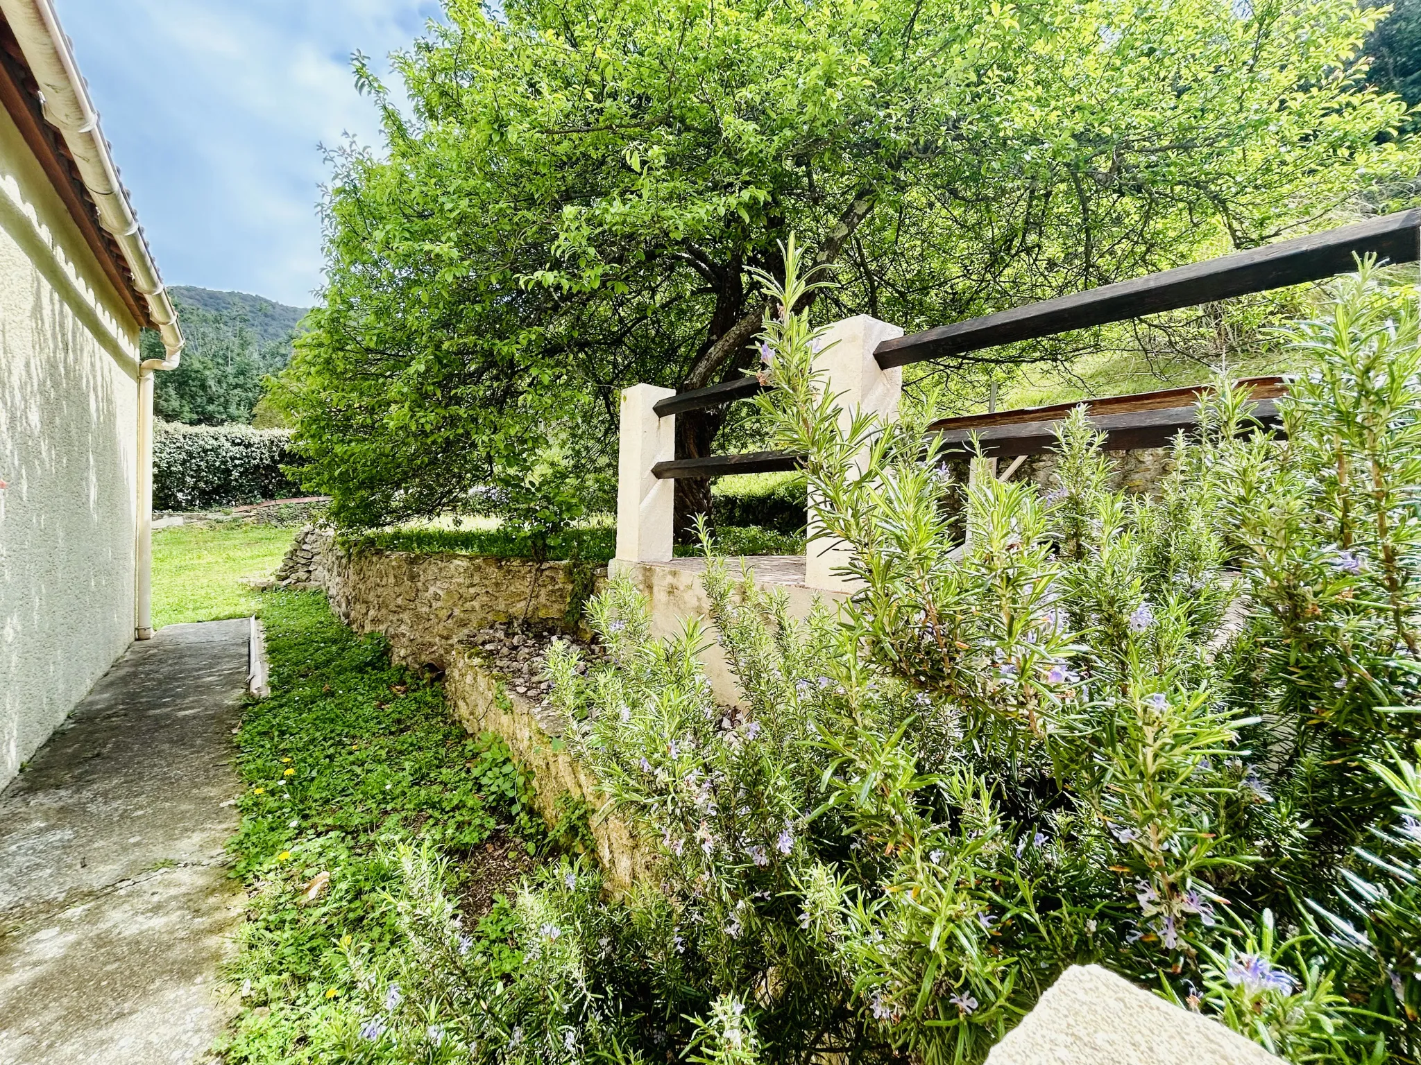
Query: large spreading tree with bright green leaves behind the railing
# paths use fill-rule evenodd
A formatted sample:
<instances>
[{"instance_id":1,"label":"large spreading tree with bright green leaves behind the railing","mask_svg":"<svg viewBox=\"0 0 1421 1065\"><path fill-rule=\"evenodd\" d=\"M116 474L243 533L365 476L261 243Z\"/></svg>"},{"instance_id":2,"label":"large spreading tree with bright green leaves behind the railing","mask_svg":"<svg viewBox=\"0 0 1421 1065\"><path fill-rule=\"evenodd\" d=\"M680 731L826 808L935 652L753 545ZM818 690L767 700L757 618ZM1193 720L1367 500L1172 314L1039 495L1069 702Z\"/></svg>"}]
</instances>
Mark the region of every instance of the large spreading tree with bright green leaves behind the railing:
<instances>
[{"instance_id":1,"label":"large spreading tree with bright green leaves behind the railing","mask_svg":"<svg viewBox=\"0 0 1421 1065\"><path fill-rule=\"evenodd\" d=\"M355 524L512 498L534 453L595 483L618 388L755 362L747 271L790 233L836 267L820 320L917 329L1320 224L1410 152L1350 0L445 7L395 57L411 115L357 57L388 156L333 153L287 379ZM723 420L679 417L678 454ZM682 524L706 491L678 481Z\"/></svg>"}]
</instances>

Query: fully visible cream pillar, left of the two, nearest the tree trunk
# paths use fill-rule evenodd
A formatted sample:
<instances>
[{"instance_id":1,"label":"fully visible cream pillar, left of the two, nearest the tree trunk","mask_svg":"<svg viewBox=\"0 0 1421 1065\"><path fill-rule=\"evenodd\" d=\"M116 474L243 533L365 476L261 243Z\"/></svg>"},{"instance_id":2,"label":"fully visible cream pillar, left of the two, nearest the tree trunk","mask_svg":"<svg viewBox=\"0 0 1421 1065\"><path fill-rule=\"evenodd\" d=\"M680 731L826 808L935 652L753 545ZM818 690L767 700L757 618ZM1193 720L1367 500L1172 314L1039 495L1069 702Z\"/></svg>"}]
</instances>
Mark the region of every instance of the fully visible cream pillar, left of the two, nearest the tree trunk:
<instances>
[{"instance_id":1,"label":"fully visible cream pillar, left of the two, nearest the tree trunk","mask_svg":"<svg viewBox=\"0 0 1421 1065\"><path fill-rule=\"evenodd\" d=\"M676 457L676 417L657 417L658 402L676 395L655 385L622 389L621 443L617 452L615 575L630 562L671 559L675 483L651 476L651 467Z\"/></svg>"}]
</instances>

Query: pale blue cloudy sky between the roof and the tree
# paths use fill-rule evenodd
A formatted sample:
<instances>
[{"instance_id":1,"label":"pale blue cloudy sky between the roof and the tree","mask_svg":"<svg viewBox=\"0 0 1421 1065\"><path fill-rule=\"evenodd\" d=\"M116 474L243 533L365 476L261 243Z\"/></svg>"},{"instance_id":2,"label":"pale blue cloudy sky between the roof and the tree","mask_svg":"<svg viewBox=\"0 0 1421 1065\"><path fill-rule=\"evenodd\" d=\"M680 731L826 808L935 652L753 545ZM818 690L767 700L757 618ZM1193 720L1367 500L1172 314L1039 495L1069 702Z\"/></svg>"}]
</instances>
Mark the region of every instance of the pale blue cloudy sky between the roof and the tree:
<instances>
[{"instance_id":1,"label":"pale blue cloudy sky between the roof and the tree","mask_svg":"<svg viewBox=\"0 0 1421 1065\"><path fill-rule=\"evenodd\" d=\"M55 7L163 280L310 305L328 173L317 145L378 143L350 54L408 45L436 0Z\"/></svg>"}]
</instances>

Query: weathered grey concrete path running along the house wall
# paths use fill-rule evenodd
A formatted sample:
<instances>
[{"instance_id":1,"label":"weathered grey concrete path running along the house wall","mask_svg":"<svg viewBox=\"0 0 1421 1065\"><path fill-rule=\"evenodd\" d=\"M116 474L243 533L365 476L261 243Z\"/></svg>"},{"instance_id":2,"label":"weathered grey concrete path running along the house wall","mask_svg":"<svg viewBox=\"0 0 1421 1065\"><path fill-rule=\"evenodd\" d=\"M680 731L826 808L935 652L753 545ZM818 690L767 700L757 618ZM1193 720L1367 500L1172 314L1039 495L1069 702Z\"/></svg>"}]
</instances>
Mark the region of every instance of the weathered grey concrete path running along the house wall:
<instances>
[{"instance_id":1,"label":"weathered grey concrete path running along the house wall","mask_svg":"<svg viewBox=\"0 0 1421 1065\"><path fill-rule=\"evenodd\" d=\"M0 794L0 1065L207 1061L246 621L135 643Z\"/></svg>"}]
</instances>

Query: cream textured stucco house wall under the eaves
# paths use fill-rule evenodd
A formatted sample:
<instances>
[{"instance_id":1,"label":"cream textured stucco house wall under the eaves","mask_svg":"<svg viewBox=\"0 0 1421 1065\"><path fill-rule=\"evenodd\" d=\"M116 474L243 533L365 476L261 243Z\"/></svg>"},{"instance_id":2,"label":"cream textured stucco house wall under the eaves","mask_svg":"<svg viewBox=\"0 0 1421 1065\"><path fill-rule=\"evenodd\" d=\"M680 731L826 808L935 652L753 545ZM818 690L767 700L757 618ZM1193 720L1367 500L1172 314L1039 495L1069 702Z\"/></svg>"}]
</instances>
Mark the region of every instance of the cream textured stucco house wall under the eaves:
<instances>
[{"instance_id":1,"label":"cream textured stucco house wall under the eaves","mask_svg":"<svg viewBox=\"0 0 1421 1065\"><path fill-rule=\"evenodd\" d=\"M0 111L0 787L134 636L138 329Z\"/></svg>"}]
</instances>

